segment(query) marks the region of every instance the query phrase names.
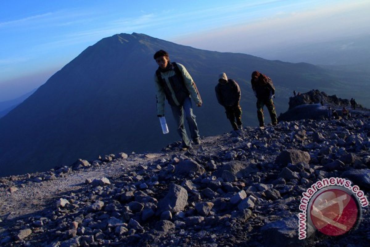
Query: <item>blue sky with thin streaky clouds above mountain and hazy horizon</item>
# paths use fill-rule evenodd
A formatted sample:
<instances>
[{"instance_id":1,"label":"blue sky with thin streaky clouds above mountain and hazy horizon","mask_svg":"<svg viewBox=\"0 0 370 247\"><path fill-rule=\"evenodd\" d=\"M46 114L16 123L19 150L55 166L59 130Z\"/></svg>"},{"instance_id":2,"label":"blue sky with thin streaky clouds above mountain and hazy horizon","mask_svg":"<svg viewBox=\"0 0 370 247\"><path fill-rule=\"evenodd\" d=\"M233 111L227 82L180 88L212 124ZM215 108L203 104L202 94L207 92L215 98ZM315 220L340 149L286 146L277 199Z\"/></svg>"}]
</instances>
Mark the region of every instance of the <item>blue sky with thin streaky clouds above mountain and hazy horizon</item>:
<instances>
[{"instance_id":1,"label":"blue sky with thin streaky clouds above mountain and hazy horizon","mask_svg":"<svg viewBox=\"0 0 370 247\"><path fill-rule=\"evenodd\" d=\"M100 39L145 33L245 52L369 34L368 0L0 1L0 101L43 84Z\"/></svg>"}]
</instances>

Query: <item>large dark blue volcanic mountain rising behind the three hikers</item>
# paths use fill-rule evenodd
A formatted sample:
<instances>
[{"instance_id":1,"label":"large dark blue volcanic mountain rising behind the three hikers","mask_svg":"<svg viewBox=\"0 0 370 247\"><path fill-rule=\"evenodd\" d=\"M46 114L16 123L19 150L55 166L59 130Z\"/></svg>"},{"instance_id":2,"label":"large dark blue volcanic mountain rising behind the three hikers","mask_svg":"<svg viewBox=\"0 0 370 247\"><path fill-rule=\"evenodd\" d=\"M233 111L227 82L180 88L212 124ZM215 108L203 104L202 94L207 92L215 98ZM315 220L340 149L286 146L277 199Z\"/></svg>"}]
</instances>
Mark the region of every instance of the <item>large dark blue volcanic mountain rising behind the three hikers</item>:
<instances>
[{"instance_id":1,"label":"large dark blue volcanic mountain rising behind the three hikers","mask_svg":"<svg viewBox=\"0 0 370 247\"><path fill-rule=\"evenodd\" d=\"M346 88L324 69L310 64L199 50L144 34L117 34L88 47L0 119L0 175L45 171L71 164L78 157L92 160L122 150L158 151L176 140L169 109L168 135L161 135L156 117L153 78L157 65L152 56L159 49L184 64L197 83L203 106L195 107L195 114L205 136L230 128L214 92L221 71L239 82L242 118L249 126L257 124L249 84L253 70L272 77L278 112L285 109L293 89L320 86L325 90L324 85L330 92Z\"/></svg>"}]
</instances>

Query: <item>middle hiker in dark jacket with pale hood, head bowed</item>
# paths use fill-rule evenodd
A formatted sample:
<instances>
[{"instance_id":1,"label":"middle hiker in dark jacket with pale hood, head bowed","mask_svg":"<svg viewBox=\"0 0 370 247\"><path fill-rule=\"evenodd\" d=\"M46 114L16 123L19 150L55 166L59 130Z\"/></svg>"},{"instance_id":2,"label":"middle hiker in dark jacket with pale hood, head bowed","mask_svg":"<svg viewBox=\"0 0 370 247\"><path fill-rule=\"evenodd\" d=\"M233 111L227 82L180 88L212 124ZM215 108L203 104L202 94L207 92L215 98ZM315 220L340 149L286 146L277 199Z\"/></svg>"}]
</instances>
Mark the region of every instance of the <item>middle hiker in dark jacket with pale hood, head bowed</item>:
<instances>
[{"instance_id":1,"label":"middle hiker in dark jacket with pale hood, head bowed","mask_svg":"<svg viewBox=\"0 0 370 247\"><path fill-rule=\"evenodd\" d=\"M242 109L239 105L241 94L238 83L228 79L225 73L221 73L215 91L217 101L225 107L226 117L229 119L233 130L242 130Z\"/></svg>"}]
</instances>

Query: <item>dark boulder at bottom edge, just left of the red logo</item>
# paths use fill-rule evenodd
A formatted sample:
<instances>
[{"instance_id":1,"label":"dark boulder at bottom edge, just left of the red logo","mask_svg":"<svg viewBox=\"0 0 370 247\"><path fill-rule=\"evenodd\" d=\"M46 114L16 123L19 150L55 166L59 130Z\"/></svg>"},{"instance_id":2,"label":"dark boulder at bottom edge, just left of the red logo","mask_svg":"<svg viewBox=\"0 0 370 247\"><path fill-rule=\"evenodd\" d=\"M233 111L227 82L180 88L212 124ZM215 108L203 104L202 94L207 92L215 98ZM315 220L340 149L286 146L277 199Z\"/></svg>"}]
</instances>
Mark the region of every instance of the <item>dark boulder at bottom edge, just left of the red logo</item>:
<instances>
[{"instance_id":1,"label":"dark boulder at bottom edge, just left of the red logo","mask_svg":"<svg viewBox=\"0 0 370 247\"><path fill-rule=\"evenodd\" d=\"M295 247L300 246L298 240L298 218L296 216L270 222L261 228L265 236L265 246Z\"/></svg>"}]
</instances>

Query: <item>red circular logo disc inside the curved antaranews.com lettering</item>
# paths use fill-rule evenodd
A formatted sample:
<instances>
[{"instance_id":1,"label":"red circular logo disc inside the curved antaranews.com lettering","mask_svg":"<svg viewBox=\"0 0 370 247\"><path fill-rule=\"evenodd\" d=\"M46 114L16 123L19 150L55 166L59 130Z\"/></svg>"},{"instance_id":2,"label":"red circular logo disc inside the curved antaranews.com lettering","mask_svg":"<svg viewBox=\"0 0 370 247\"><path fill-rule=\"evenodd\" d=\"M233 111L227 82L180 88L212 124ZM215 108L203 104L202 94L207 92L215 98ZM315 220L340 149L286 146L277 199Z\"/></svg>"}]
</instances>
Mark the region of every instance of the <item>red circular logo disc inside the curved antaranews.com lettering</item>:
<instances>
[{"instance_id":1,"label":"red circular logo disc inside the curved antaranews.com lettering","mask_svg":"<svg viewBox=\"0 0 370 247\"><path fill-rule=\"evenodd\" d=\"M329 189L314 198L309 213L317 230L329 236L339 236L354 226L359 208L346 191Z\"/></svg>"}]
</instances>

